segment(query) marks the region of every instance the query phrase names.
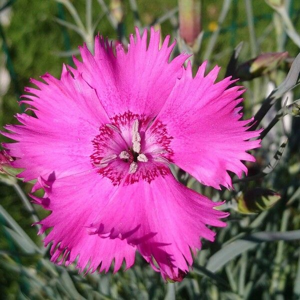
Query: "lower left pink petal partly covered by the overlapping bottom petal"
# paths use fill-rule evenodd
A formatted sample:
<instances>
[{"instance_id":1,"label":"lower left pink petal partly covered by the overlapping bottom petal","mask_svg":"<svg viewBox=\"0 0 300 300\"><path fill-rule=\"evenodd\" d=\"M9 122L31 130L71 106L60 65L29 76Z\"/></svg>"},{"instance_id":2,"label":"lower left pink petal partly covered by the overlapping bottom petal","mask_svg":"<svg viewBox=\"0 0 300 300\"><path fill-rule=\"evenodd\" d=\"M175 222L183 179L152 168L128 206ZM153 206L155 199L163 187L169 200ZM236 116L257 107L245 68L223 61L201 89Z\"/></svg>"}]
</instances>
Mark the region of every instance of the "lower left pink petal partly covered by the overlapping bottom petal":
<instances>
[{"instance_id":1,"label":"lower left pink petal partly covered by the overlapping bottom petal","mask_svg":"<svg viewBox=\"0 0 300 300\"><path fill-rule=\"evenodd\" d=\"M43 186L46 195L51 196L46 198L47 201L42 198L40 204L51 213L39 222L42 225L39 233L53 227L44 239L45 245L53 241L51 261L68 265L79 255L77 267L80 271L87 268L86 272L96 269L106 272L113 259L114 272L120 268L123 259L127 268L134 263L135 248L126 240L88 233L86 224L97 216L103 201L116 189L108 181L100 180L99 175L89 171L56 179L51 186ZM33 198L38 203L38 199Z\"/></svg>"}]
</instances>

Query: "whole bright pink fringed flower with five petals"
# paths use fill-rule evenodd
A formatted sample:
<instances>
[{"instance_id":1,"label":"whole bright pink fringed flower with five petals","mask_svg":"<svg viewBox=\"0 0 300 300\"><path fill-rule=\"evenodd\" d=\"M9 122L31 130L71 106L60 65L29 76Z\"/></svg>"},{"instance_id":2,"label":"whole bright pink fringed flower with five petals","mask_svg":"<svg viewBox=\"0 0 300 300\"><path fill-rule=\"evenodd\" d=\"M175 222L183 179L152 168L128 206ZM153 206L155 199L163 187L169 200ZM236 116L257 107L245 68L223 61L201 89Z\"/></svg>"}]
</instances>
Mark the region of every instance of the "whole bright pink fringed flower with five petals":
<instances>
[{"instance_id":1,"label":"whole bright pink fringed flower with five petals","mask_svg":"<svg viewBox=\"0 0 300 300\"><path fill-rule=\"evenodd\" d=\"M135 251L164 278L182 279L200 238L213 241L207 227L225 226L227 213L207 197L176 181L174 163L205 185L231 187L227 171L239 177L241 160L259 146L258 131L241 120L243 90L229 77L215 82L219 67L206 75L203 62L192 76L188 58L170 60L175 42L160 44L151 29L130 35L128 50L96 36L94 54L80 47L82 61L63 66L60 79L46 73L26 87L23 103L34 116L17 114L21 125L2 134L11 163L25 181L37 179L51 213L51 260L80 270L107 271L114 262L134 262ZM231 86L231 87L230 87ZM249 140L250 139L250 140Z\"/></svg>"}]
</instances>

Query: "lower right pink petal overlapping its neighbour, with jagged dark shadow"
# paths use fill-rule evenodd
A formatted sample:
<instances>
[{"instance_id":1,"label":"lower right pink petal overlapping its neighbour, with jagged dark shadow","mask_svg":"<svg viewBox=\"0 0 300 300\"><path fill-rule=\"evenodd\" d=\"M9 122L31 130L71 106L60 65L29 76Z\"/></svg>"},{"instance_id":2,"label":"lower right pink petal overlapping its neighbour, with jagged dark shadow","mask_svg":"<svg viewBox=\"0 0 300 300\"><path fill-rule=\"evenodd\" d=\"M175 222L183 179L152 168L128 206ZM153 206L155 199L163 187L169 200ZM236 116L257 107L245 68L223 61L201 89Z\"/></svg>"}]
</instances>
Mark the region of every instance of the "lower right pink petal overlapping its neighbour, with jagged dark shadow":
<instances>
[{"instance_id":1,"label":"lower right pink petal overlapping its neighbour, with jagged dark shadow","mask_svg":"<svg viewBox=\"0 0 300 300\"><path fill-rule=\"evenodd\" d=\"M157 262L163 276L176 278L192 264L190 249L201 248L200 237L214 240L206 225L225 226L228 214L219 205L177 182L169 172L150 183L121 186L98 213L93 233L110 233L136 245L147 261Z\"/></svg>"}]
</instances>

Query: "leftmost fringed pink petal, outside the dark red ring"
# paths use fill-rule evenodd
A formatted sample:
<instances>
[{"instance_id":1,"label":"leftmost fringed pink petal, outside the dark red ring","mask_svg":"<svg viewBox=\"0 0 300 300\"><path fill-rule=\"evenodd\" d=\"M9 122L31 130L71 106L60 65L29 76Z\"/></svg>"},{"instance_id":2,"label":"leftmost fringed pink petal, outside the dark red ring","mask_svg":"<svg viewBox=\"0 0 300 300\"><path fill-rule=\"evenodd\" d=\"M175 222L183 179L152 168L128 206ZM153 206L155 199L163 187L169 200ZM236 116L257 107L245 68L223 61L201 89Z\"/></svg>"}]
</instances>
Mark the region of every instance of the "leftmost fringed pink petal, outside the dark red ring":
<instances>
[{"instance_id":1,"label":"leftmost fringed pink petal, outside the dark red ring","mask_svg":"<svg viewBox=\"0 0 300 300\"><path fill-rule=\"evenodd\" d=\"M18 157L12 165L25 168L19 174L25 180L38 176L67 176L92 168L91 140L99 127L109 122L95 93L81 76L73 78L63 67L61 79L50 74L42 76L46 83L32 80L37 88L26 88L34 95L24 95L31 101L36 117L17 114L22 125L7 125L12 131L2 132L18 142L4 144L10 155Z\"/></svg>"}]
</instances>

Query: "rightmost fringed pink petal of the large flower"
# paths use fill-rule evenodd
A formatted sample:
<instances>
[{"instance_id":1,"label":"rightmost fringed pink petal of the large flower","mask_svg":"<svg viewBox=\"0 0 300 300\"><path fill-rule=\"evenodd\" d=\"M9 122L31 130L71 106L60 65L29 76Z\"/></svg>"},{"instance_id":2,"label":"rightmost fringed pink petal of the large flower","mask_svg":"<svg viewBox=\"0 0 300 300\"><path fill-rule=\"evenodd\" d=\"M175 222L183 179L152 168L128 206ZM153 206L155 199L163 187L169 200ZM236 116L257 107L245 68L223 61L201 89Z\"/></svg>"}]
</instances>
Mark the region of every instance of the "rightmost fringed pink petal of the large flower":
<instances>
[{"instance_id":1,"label":"rightmost fringed pink petal of the large flower","mask_svg":"<svg viewBox=\"0 0 300 300\"><path fill-rule=\"evenodd\" d=\"M146 138L157 122L166 124L174 152L172 162L205 185L229 187L232 183L227 170L239 177L247 171L241 160L254 161L246 151L259 147L259 139L249 139L260 131L246 131L252 119L241 120L242 107L236 107L242 101L240 86L229 87L233 82L229 77L214 83L219 68L204 76L205 65L192 78L188 64L146 131Z\"/></svg>"}]
</instances>

